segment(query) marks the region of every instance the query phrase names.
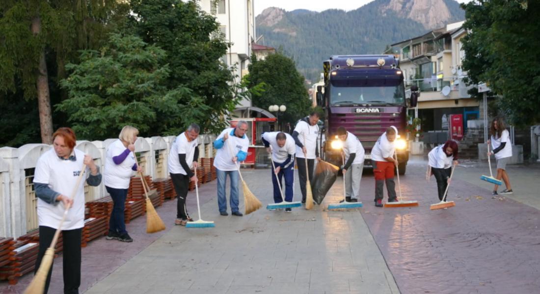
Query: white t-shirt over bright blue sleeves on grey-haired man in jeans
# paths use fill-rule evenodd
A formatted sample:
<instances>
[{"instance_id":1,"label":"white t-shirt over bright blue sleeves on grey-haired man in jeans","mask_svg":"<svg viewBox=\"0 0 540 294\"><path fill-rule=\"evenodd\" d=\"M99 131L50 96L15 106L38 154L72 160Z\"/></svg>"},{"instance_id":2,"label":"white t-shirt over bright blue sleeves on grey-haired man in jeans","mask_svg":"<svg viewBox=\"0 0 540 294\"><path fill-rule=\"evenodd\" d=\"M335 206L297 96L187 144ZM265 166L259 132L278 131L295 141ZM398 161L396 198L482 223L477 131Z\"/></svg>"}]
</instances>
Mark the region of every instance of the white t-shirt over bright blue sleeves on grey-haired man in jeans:
<instances>
[{"instance_id":1,"label":"white t-shirt over bright blue sleeves on grey-haired man in jeans","mask_svg":"<svg viewBox=\"0 0 540 294\"><path fill-rule=\"evenodd\" d=\"M237 170L236 163L233 162L233 156L236 156L239 151L247 153L249 147L249 139L246 135L238 138L234 135L234 128L226 128L219 134L216 140L221 140L225 134L229 134L229 138L223 143L223 147L218 149L215 154L214 166L219 170Z\"/></svg>"}]
</instances>

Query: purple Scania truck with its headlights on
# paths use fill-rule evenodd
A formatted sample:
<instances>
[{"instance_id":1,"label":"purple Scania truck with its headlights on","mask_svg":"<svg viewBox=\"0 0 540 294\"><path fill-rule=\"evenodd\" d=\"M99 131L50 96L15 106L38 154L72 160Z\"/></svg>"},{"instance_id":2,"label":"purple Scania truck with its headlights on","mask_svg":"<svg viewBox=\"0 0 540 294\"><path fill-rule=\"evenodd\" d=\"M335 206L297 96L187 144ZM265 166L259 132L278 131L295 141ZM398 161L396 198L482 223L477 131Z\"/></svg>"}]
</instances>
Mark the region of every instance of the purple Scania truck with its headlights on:
<instances>
[{"instance_id":1,"label":"purple Scania truck with its headlights on","mask_svg":"<svg viewBox=\"0 0 540 294\"><path fill-rule=\"evenodd\" d=\"M323 69L325 84L317 88L317 104L326 117L321 132L325 160L341 165L340 151L332 149L331 143L336 140L336 129L343 126L362 142L364 167L372 166L375 142L389 126L395 126L401 136L396 142L397 160L404 174L409 160L407 107L416 106L418 88L411 87L410 99L406 99L399 60L392 55L332 56L323 62Z\"/></svg>"}]
</instances>

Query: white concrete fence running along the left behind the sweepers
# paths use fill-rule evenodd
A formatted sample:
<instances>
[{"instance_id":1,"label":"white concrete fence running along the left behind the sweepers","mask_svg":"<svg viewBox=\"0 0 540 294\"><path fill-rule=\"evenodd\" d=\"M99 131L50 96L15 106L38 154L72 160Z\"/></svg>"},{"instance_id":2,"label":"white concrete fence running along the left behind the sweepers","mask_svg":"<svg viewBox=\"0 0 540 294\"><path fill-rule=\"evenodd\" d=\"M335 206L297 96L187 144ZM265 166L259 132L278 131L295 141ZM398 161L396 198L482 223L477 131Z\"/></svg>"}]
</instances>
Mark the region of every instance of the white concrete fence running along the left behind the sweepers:
<instances>
[{"instance_id":1,"label":"white concrete fence running along the left behind the sweepers","mask_svg":"<svg viewBox=\"0 0 540 294\"><path fill-rule=\"evenodd\" d=\"M138 138L135 153L145 175L152 179L168 177L167 158L175 136ZM199 135L199 158L213 158L215 135ZM107 147L118 139L77 141L75 148L92 156L103 172ZM45 144L26 144L19 148L0 148L0 237L17 238L38 228L37 198L33 174L40 155L52 148ZM85 201L109 195L103 182L98 187L85 184Z\"/></svg>"}]
</instances>

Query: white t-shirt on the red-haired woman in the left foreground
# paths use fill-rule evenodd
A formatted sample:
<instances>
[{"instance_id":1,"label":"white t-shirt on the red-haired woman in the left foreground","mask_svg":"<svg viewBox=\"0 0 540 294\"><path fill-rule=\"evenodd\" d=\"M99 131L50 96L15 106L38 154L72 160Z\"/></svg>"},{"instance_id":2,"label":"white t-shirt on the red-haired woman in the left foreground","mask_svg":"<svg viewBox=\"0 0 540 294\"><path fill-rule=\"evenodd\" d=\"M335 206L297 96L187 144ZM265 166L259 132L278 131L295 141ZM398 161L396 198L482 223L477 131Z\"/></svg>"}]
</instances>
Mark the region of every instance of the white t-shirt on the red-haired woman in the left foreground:
<instances>
[{"instance_id":1,"label":"white t-shirt on the red-haired woman in the left foreground","mask_svg":"<svg viewBox=\"0 0 540 294\"><path fill-rule=\"evenodd\" d=\"M48 184L49 188L64 196L72 197L73 188L77 184L79 174L82 172L84 152L74 149L76 161L59 159L55 149L39 156L33 181ZM73 206L62 224L62 230L75 230L84 227L84 180L90 170L86 168L83 179L80 180L77 192L73 196ZM38 198L37 216L39 225L58 229L60 220L64 215L64 203L49 204Z\"/></svg>"}]
</instances>

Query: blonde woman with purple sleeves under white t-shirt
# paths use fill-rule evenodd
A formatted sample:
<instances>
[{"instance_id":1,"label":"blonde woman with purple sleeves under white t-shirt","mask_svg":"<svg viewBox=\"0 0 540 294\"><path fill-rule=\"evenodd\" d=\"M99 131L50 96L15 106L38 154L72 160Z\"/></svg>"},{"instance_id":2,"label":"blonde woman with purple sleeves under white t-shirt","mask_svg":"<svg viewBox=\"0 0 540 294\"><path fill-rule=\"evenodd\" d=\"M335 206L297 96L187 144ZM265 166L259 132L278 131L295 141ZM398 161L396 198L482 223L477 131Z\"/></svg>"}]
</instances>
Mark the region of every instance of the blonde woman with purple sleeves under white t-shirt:
<instances>
[{"instance_id":1,"label":"blonde woman with purple sleeves under white t-shirt","mask_svg":"<svg viewBox=\"0 0 540 294\"><path fill-rule=\"evenodd\" d=\"M122 128L118 140L107 147L105 156L105 170L103 171L105 189L111 195L113 208L109 219L109 234L107 240L119 240L133 242L127 234L124 222L124 209L127 197L127 188L130 187L130 179L133 172L140 172L140 167L135 162L135 141L139 130L132 126Z\"/></svg>"}]
</instances>

